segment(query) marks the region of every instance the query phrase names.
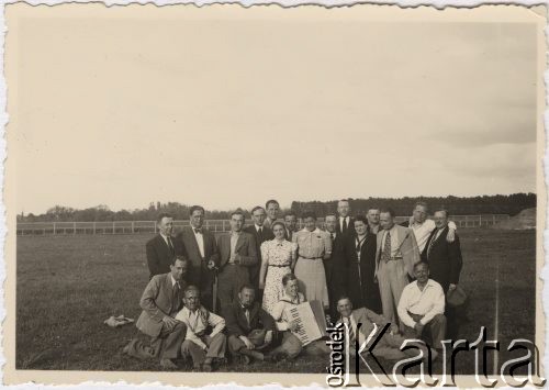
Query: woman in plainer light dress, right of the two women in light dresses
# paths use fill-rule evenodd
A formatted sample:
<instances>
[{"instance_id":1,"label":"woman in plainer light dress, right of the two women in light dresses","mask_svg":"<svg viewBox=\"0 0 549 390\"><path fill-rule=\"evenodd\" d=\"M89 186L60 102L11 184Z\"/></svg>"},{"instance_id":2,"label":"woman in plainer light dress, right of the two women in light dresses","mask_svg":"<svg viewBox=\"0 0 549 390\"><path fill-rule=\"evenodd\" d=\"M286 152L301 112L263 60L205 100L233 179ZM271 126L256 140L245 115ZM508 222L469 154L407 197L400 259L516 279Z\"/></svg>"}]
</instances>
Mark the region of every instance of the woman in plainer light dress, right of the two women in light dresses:
<instances>
[{"instance_id":1,"label":"woman in plainer light dress, right of the two women in light dresses","mask_svg":"<svg viewBox=\"0 0 549 390\"><path fill-rule=\"evenodd\" d=\"M316 227L313 212L303 214L305 227L293 235L298 244L298 261L294 274L300 281L300 291L307 301L321 301L324 309L329 307L328 288L323 259L332 255L329 234Z\"/></svg>"}]
</instances>

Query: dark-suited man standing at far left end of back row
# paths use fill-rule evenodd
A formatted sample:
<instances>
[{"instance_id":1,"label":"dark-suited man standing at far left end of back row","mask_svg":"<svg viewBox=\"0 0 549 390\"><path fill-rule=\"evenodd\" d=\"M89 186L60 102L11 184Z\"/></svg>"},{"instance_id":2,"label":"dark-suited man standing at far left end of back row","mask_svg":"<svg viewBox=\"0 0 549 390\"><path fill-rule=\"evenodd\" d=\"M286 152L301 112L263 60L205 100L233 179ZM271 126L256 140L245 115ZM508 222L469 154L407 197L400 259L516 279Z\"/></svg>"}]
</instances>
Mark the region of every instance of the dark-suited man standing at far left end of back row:
<instances>
[{"instance_id":1,"label":"dark-suited man standing at far left end of back row","mask_svg":"<svg viewBox=\"0 0 549 390\"><path fill-rule=\"evenodd\" d=\"M170 214L161 213L156 220L158 234L149 239L146 244L147 265L149 270L149 279L155 275L167 274L170 271L170 264L176 256L173 245L173 218Z\"/></svg>"}]
</instances>

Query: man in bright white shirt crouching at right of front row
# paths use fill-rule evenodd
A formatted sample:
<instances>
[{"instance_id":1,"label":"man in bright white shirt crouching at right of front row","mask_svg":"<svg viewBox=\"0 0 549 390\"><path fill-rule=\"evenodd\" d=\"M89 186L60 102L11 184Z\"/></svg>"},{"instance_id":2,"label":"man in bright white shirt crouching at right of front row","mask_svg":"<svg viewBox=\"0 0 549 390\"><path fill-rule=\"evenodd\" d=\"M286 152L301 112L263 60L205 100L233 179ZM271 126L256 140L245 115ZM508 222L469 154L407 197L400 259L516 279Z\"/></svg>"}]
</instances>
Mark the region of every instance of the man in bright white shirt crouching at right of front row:
<instances>
[{"instance_id":1,"label":"man in bright white shirt crouching at right of front row","mask_svg":"<svg viewBox=\"0 0 549 390\"><path fill-rule=\"evenodd\" d=\"M425 336L430 333L432 346L442 349L446 336L445 293L439 283L429 279L429 266L419 261L414 266L417 280L407 285L399 301L399 317L404 325L407 338Z\"/></svg>"}]
</instances>

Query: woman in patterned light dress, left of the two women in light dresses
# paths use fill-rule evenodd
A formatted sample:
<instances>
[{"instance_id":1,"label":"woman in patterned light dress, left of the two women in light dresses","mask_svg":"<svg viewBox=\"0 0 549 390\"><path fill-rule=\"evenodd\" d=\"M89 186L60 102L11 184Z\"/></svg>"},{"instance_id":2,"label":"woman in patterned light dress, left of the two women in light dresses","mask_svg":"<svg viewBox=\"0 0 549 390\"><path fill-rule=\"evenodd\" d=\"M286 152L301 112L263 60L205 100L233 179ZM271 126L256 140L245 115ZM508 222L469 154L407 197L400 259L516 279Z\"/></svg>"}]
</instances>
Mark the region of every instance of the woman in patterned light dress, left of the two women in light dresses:
<instances>
[{"instance_id":1,"label":"woman in patterned light dress, left of the two women in light dresses","mask_svg":"<svg viewBox=\"0 0 549 390\"><path fill-rule=\"evenodd\" d=\"M262 308L272 315L272 309L282 297L282 277L295 266L298 245L284 238L285 226L274 222L271 226L274 238L261 244L261 269L259 289L264 289Z\"/></svg>"}]
</instances>

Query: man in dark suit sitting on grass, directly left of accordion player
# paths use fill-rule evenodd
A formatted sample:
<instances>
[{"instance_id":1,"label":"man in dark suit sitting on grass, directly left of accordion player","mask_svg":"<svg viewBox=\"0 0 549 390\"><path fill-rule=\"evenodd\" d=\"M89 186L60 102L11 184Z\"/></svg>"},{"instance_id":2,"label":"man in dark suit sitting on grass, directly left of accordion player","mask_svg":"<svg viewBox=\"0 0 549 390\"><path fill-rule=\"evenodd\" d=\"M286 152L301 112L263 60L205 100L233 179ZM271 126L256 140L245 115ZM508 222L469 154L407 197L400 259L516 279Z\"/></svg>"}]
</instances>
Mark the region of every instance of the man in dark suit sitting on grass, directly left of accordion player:
<instances>
[{"instance_id":1,"label":"man in dark suit sitting on grass, directly left of accordion player","mask_svg":"<svg viewBox=\"0 0 549 390\"><path fill-rule=\"evenodd\" d=\"M223 310L228 331L228 349L249 364L250 358L265 360L265 350L272 343L277 325L272 316L255 301L255 289L244 285L238 300Z\"/></svg>"}]
</instances>

